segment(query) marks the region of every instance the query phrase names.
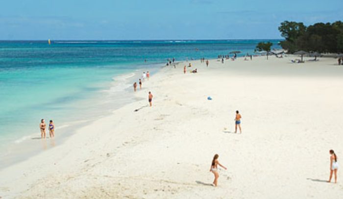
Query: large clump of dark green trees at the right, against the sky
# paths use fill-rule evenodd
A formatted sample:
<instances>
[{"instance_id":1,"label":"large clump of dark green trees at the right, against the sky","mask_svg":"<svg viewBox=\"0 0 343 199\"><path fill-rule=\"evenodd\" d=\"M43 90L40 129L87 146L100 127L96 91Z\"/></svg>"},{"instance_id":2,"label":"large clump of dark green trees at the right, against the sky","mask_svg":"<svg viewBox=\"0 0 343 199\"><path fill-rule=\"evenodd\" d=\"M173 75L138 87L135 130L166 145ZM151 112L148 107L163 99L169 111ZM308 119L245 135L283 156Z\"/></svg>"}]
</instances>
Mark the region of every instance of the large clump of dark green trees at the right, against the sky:
<instances>
[{"instance_id":1,"label":"large clump of dark green trees at the right, against the sky","mask_svg":"<svg viewBox=\"0 0 343 199\"><path fill-rule=\"evenodd\" d=\"M301 22L282 22L279 26L283 49L293 53L298 50L319 53L343 52L343 22L316 23L306 27Z\"/></svg>"}]
</instances>

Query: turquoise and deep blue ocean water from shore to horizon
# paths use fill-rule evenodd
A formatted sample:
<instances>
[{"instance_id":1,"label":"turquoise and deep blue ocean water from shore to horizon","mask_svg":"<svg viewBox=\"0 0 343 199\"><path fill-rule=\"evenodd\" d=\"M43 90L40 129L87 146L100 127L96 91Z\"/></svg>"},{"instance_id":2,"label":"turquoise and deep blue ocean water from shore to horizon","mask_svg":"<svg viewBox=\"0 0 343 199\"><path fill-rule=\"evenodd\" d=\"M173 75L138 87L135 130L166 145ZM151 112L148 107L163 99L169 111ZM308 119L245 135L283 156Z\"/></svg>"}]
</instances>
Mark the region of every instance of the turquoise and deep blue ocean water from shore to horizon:
<instances>
[{"instance_id":1,"label":"turquoise and deep blue ocean water from shore to horizon","mask_svg":"<svg viewBox=\"0 0 343 199\"><path fill-rule=\"evenodd\" d=\"M143 69L156 71L168 58L252 54L261 41L280 48L278 40L0 41L0 158L40 137L41 118L62 131L129 102L130 78ZM127 96L119 100L119 92Z\"/></svg>"}]
</instances>

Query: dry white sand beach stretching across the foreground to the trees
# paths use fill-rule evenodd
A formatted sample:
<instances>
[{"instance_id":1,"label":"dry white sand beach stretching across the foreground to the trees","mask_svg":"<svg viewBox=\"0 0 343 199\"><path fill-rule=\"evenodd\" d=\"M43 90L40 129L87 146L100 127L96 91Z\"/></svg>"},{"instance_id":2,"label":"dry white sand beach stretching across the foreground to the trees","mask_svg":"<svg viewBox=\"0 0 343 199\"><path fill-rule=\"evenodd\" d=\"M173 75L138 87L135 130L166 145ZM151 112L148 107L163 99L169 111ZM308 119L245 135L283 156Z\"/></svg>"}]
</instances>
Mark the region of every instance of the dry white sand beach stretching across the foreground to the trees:
<instances>
[{"instance_id":1,"label":"dry white sand beach stretching across the foreground to the trees","mask_svg":"<svg viewBox=\"0 0 343 199\"><path fill-rule=\"evenodd\" d=\"M1 170L0 197L339 199L342 169L337 184L325 181L330 149L343 166L343 67L293 58L196 60L187 68L196 74L183 74L188 63L163 67L137 101ZM228 168L218 187L209 172L215 154Z\"/></svg>"}]
</instances>

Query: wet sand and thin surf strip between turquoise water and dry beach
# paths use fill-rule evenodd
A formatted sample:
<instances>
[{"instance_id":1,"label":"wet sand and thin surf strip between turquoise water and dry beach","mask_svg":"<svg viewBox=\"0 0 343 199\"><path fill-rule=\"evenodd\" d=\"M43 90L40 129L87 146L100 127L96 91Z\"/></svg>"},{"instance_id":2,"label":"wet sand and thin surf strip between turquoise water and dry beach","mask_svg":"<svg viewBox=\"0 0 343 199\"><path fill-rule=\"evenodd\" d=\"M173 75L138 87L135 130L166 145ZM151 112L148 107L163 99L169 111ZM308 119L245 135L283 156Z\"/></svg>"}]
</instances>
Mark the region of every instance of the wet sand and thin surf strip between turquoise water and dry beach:
<instances>
[{"instance_id":1,"label":"wet sand and thin surf strip between turquoise water and dry beach","mask_svg":"<svg viewBox=\"0 0 343 199\"><path fill-rule=\"evenodd\" d=\"M159 70L161 64L155 64L151 63L149 64L149 70L152 71L151 75L153 75L156 71ZM144 66L147 70L146 65ZM62 123L61 126L56 127L56 134L55 138L51 139L49 137L49 131L47 130L47 138L46 139L41 139L40 134L38 133L31 133L22 136L19 139L12 140L12 143L7 144L8 146L6 147L7 153L1 154L1 164L0 164L0 171L10 167L13 164L20 163L22 161L25 161L26 159L29 159L32 156L39 155L47 150L50 150L58 145L63 144L70 136L73 135L73 132L75 132L79 126L84 126L88 125L89 123L92 123L98 119L101 119L103 117L106 117L108 115L111 115L113 111L121 108L122 106L131 103L131 100L137 100L135 97L132 95L131 92L131 81L138 79L141 77L141 74L139 74L138 71L143 70L143 68L138 68L134 69L131 72L123 73L123 74L118 74L112 77L112 82L108 84L108 88L105 90L98 90L97 91L97 99L91 99L92 102L96 100L95 102L98 103L100 106L105 106L105 107L98 107L102 111L102 113L98 114L92 114L91 116L88 116L87 118L84 118L82 120L74 120L70 121L68 123ZM128 84L127 87L125 87L125 83ZM130 90L130 91L129 91ZM110 110L108 110L109 105L113 105L113 103L109 102L101 102L103 99L101 99L102 93L105 93L109 97L110 95L115 95L115 94L121 94L124 100L120 100L117 103L115 103L114 107L111 106ZM127 102L125 102L127 101ZM82 103L89 103L86 101L83 101ZM99 103L101 102L101 103ZM106 105L107 104L107 105ZM88 110L89 112L90 110ZM98 111L98 110L97 110ZM78 112L78 114L83 114L82 112ZM38 126L38 125L37 125ZM55 133L56 133L55 132ZM38 140L40 140L40 143L37 143ZM27 151L29 149L29 152Z\"/></svg>"}]
</instances>

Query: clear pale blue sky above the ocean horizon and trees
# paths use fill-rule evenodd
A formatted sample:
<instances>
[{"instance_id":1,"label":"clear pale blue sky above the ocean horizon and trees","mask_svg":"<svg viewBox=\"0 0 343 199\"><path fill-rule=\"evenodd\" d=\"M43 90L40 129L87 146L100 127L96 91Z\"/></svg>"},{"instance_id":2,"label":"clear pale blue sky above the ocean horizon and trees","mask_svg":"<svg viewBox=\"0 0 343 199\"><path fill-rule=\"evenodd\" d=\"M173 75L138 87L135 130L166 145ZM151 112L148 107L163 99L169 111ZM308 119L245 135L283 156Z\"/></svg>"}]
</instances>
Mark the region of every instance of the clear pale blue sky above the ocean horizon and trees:
<instances>
[{"instance_id":1,"label":"clear pale blue sky above the ocean horizon and trees","mask_svg":"<svg viewBox=\"0 0 343 199\"><path fill-rule=\"evenodd\" d=\"M342 0L0 0L0 40L281 39L343 21Z\"/></svg>"}]
</instances>

